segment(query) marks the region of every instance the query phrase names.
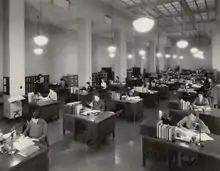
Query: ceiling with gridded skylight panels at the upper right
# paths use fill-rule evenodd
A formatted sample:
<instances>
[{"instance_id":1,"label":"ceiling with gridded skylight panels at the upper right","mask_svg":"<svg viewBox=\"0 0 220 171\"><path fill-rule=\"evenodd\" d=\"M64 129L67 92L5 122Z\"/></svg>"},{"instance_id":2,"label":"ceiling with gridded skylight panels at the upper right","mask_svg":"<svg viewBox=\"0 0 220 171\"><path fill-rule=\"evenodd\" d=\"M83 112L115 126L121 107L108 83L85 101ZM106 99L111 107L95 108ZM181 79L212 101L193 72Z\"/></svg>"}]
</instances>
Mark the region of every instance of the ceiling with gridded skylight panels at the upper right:
<instances>
[{"instance_id":1,"label":"ceiling with gridded skylight panels at the upper right","mask_svg":"<svg viewBox=\"0 0 220 171\"><path fill-rule=\"evenodd\" d=\"M101 0L131 16L149 16L171 37L210 37L219 19L219 0ZM183 31L181 31L181 26Z\"/></svg>"}]
</instances>

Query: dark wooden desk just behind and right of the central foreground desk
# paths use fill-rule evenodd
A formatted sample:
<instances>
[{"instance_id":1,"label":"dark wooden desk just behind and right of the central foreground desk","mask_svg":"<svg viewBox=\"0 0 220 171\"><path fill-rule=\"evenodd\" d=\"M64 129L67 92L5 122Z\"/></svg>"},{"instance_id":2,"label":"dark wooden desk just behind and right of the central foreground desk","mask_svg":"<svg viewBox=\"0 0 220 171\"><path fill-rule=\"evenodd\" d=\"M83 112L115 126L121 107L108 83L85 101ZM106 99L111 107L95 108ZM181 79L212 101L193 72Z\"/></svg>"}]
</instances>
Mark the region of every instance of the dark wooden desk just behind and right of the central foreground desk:
<instances>
[{"instance_id":1,"label":"dark wooden desk just behind and right of the central foreground desk","mask_svg":"<svg viewBox=\"0 0 220 171\"><path fill-rule=\"evenodd\" d=\"M131 101L131 100L106 100L107 111L123 110L121 116L127 120L133 120L136 122L143 117L143 100Z\"/></svg>"}]
</instances>

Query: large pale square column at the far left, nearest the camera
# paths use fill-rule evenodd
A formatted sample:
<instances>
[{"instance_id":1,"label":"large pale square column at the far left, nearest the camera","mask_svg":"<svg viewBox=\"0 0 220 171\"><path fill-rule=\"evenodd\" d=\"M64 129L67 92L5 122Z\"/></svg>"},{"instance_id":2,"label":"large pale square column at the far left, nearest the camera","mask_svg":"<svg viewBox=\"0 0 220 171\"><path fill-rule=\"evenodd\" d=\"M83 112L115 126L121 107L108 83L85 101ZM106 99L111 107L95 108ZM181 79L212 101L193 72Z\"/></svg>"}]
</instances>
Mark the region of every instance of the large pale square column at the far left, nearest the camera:
<instances>
[{"instance_id":1,"label":"large pale square column at the far left, nearest the camera","mask_svg":"<svg viewBox=\"0 0 220 171\"><path fill-rule=\"evenodd\" d=\"M3 76L10 96L25 94L25 2L3 0Z\"/></svg>"}]
</instances>

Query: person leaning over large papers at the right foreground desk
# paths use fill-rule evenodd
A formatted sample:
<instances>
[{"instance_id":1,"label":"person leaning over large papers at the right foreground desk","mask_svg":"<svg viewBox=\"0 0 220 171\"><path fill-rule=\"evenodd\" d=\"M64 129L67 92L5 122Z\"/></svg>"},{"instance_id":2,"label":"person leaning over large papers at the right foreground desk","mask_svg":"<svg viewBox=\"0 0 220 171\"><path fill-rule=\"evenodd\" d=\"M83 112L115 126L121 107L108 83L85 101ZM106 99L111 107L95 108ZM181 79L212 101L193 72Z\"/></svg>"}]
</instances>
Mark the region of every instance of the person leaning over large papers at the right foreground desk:
<instances>
[{"instance_id":1,"label":"person leaning over large papers at the right foreground desk","mask_svg":"<svg viewBox=\"0 0 220 171\"><path fill-rule=\"evenodd\" d=\"M205 125L205 123L195 116L195 111L193 111L193 107L190 107L190 113L188 116L185 116L181 121L177 123L178 127L185 127L191 130L200 130L203 133L210 134L209 128Z\"/></svg>"}]
</instances>

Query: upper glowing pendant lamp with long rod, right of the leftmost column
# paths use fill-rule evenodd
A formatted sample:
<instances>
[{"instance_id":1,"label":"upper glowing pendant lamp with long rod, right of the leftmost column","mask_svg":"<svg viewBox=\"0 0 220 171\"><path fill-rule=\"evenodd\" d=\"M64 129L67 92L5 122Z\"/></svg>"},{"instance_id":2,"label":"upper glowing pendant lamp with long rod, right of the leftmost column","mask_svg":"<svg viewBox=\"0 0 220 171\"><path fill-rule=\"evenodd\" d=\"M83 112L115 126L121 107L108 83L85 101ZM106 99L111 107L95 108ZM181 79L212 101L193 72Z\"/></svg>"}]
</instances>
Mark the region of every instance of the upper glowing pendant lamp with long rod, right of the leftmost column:
<instances>
[{"instance_id":1,"label":"upper glowing pendant lamp with long rod, right of the leftmost column","mask_svg":"<svg viewBox=\"0 0 220 171\"><path fill-rule=\"evenodd\" d=\"M42 9L42 0L40 0L40 16L37 16L37 36L34 37L34 42L38 45L38 46L45 46L47 45L49 39L40 33L40 29L41 29L41 22L42 22L42 13L43 13L43 9Z\"/></svg>"}]
</instances>

